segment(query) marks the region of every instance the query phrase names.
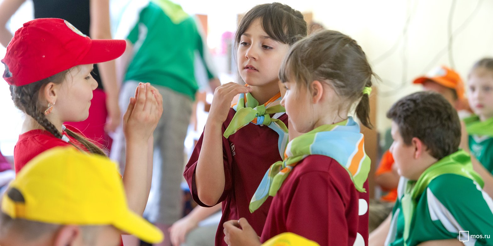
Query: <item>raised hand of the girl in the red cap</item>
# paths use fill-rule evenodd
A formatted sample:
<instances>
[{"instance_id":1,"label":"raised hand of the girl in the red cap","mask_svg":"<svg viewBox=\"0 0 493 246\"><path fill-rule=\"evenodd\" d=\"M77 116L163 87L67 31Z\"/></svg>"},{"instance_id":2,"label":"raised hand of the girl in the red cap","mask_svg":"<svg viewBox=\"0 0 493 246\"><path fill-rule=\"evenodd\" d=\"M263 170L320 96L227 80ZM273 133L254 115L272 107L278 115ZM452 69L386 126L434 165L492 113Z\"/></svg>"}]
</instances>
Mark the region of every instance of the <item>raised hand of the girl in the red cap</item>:
<instances>
[{"instance_id":1,"label":"raised hand of the girl in the red cap","mask_svg":"<svg viewBox=\"0 0 493 246\"><path fill-rule=\"evenodd\" d=\"M130 98L123 115L123 131L127 140L147 143L163 114L163 98L149 83L140 83L135 97Z\"/></svg>"}]
</instances>

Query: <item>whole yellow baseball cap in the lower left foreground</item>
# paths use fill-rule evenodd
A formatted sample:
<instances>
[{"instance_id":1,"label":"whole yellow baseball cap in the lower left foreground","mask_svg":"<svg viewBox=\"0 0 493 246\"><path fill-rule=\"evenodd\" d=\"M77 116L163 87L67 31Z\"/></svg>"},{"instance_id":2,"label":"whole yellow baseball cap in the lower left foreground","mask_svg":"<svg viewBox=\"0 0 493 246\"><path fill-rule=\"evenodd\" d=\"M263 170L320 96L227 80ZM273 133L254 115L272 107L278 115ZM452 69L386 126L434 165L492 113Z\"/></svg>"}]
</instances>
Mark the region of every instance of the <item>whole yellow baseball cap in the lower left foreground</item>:
<instances>
[{"instance_id":1,"label":"whole yellow baseball cap in the lower left foreground","mask_svg":"<svg viewBox=\"0 0 493 246\"><path fill-rule=\"evenodd\" d=\"M15 201L12 193L17 193ZM9 185L1 210L12 218L53 224L113 225L148 243L163 233L128 208L116 163L57 147L33 158Z\"/></svg>"}]
</instances>

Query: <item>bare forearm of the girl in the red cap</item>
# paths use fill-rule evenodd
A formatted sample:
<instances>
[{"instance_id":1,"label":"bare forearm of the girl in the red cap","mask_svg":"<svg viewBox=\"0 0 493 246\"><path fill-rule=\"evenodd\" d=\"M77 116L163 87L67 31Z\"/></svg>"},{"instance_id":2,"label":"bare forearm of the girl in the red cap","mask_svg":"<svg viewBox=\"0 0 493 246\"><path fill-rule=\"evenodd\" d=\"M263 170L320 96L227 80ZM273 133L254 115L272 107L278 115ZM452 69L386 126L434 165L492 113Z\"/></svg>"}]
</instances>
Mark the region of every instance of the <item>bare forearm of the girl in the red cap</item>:
<instances>
[{"instance_id":1,"label":"bare forearm of the girl in the red cap","mask_svg":"<svg viewBox=\"0 0 493 246\"><path fill-rule=\"evenodd\" d=\"M152 159L151 159L152 160ZM126 165L123 173L123 185L128 206L135 213L144 212L149 195L152 172L147 141L126 141ZM150 169L150 170L149 170Z\"/></svg>"}]
</instances>

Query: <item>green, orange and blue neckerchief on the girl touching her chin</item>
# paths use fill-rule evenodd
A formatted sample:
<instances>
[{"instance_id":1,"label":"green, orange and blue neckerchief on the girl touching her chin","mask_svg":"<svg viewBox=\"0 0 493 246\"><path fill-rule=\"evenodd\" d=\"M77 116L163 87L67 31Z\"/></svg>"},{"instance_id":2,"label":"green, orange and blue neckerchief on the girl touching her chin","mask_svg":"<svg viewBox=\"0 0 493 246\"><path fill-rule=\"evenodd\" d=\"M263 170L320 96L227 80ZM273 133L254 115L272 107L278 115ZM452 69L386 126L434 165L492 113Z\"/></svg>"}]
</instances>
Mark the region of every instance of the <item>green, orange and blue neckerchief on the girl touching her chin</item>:
<instances>
[{"instance_id":1,"label":"green, orange and blue neckerchief on the girl touching her chin","mask_svg":"<svg viewBox=\"0 0 493 246\"><path fill-rule=\"evenodd\" d=\"M271 118L271 114L286 112L281 105L281 93L278 93L262 105L259 105L258 101L250 93L240 94L238 103L233 104L232 107L236 113L224 131L223 136L225 138L229 138L229 136L235 134L237 130L248 123L267 125L279 134L279 154L284 157L284 149L288 141L288 130L281 120L276 119L275 116Z\"/></svg>"}]
</instances>

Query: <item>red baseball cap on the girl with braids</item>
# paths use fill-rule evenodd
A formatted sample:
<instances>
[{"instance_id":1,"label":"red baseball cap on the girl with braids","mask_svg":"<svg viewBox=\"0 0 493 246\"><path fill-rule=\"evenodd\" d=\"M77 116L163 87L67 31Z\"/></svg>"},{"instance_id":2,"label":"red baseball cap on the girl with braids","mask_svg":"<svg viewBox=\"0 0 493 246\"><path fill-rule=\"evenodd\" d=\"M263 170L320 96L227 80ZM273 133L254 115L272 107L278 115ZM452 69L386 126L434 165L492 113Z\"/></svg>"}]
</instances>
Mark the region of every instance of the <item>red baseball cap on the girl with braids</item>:
<instances>
[{"instance_id":1,"label":"red baseball cap on the girl with braids","mask_svg":"<svg viewBox=\"0 0 493 246\"><path fill-rule=\"evenodd\" d=\"M62 19L35 19L24 23L7 45L3 79L9 85L31 84L76 65L116 59L125 45L125 40L93 40Z\"/></svg>"}]
</instances>

